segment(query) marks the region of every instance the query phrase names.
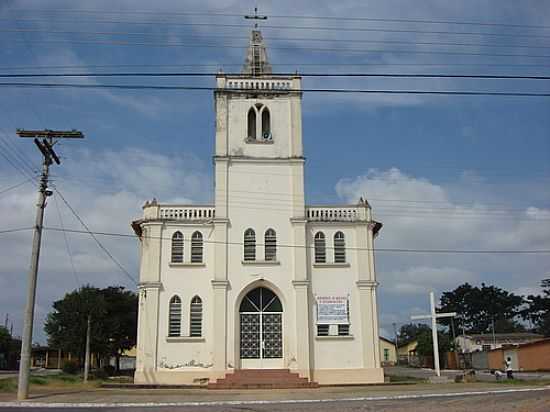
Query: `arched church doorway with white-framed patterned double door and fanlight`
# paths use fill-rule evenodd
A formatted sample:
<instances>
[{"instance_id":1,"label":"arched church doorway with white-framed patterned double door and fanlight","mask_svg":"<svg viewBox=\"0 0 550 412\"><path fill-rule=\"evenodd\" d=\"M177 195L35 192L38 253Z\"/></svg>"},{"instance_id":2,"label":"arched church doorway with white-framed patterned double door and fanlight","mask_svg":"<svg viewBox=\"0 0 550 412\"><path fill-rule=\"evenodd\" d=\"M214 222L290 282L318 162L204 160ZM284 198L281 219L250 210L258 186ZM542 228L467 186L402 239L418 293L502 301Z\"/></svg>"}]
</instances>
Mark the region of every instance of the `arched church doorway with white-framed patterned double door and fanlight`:
<instances>
[{"instance_id":1,"label":"arched church doorway with white-framed patterned double door and fanlight","mask_svg":"<svg viewBox=\"0 0 550 412\"><path fill-rule=\"evenodd\" d=\"M283 305L268 288L251 290L241 301L241 368L283 367Z\"/></svg>"}]
</instances>

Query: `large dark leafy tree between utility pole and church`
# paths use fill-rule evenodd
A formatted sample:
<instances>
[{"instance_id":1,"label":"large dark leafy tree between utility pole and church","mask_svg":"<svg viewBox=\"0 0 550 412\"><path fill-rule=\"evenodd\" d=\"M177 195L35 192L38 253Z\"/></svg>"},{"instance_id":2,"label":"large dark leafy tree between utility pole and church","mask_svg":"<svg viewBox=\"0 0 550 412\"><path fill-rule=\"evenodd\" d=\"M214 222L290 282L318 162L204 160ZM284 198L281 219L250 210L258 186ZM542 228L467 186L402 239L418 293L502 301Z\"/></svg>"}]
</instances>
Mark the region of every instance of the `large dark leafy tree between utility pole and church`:
<instances>
[{"instance_id":1,"label":"large dark leafy tree between utility pole and church","mask_svg":"<svg viewBox=\"0 0 550 412\"><path fill-rule=\"evenodd\" d=\"M136 344L137 295L123 287L85 286L54 302L44 329L50 346L84 359L86 327L91 316L90 350L101 357L115 356Z\"/></svg>"}]
</instances>

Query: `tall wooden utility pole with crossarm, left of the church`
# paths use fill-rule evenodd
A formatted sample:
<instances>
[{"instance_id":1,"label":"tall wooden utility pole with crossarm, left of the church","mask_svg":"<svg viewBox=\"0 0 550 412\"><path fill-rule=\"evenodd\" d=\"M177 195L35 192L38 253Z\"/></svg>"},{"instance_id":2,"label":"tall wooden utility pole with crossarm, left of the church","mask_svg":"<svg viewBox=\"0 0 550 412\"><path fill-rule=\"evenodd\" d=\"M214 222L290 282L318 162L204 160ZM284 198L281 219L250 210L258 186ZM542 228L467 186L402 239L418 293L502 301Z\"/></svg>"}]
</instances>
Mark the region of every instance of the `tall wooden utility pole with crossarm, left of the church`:
<instances>
[{"instance_id":1,"label":"tall wooden utility pole with crossarm, left of the church","mask_svg":"<svg viewBox=\"0 0 550 412\"><path fill-rule=\"evenodd\" d=\"M31 264L28 273L27 303L23 317L23 334L21 336L21 360L19 362L19 382L17 385L17 399L25 400L29 396L29 375L32 352L32 328L34 323L34 306L36 301L36 282L38 276L38 263L40 258L40 245L42 242L42 228L44 222L44 209L46 198L52 195L48 189L50 165L61 161L53 150L53 146L60 138L83 138L84 135L77 130L22 130L17 129L19 137L34 138L34 144L42 153L42 174L38 188L38 203L36 204L36 219L32 240ZM42 138L42 141L38 138Z\"/></svg>"}]
</instances>

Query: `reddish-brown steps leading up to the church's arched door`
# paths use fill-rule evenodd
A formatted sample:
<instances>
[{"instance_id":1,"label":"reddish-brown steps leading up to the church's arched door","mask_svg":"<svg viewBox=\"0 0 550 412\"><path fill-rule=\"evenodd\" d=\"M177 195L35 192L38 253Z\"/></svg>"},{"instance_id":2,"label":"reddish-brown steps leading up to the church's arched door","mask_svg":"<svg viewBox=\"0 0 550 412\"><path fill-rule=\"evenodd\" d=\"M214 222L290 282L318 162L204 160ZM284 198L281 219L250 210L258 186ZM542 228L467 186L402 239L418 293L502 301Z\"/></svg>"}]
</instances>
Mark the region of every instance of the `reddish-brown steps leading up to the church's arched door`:
<instances>
[{"instance_id":1,"label":"reddish-brown steps leading up to the church's arched door","mask_svg":"<svg viewBox=\"0 0 550 412\"><path fill-rule=\"evenodd\" d=\"M293 389L318 388L289 369L238 369L208 384L208 389Z\"/></svg>"}]
</instances>

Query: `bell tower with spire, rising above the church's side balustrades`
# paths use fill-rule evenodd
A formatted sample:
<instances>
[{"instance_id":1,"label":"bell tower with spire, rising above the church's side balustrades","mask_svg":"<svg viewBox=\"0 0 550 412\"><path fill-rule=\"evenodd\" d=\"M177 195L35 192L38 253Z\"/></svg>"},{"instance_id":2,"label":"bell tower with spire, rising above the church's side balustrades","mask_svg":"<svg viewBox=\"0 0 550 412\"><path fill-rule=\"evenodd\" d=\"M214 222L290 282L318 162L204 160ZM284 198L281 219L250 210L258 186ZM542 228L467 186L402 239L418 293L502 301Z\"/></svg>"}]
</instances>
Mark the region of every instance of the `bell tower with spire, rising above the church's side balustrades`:
<instances>
[{"instance_id":1,"label":"bell tower with spire, rising above the church's side balustrades","mask_svg":"<svg viewBox=\"0 0 550 412\"><path fill-rule=\"evenodd\" d=\"M216 82L216 216L228 217L232 204L261 207L272 191L284 199L279 209L303 217L300 76L274 75L253 29L241 73L219 73Z\"/></svg>"}]
</instances>

